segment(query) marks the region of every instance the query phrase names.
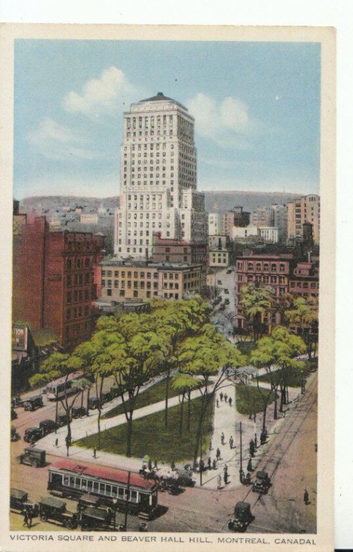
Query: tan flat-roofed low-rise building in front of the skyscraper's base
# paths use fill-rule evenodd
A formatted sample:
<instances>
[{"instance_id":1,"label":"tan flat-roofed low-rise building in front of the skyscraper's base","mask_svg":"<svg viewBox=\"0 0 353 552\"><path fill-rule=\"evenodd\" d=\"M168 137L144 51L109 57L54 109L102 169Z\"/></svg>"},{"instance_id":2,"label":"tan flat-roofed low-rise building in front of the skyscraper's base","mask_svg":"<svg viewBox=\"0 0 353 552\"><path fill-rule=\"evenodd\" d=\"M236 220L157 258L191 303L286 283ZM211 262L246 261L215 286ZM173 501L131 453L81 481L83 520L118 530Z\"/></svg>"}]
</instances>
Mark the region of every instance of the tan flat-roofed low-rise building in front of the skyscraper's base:
<instances>
[{"instance_id":1,"label":"tan flat-roofed low-rise building in front of the skyscraper's base","mask_svg":"<svg viewBox=\"0 0 353 552\"><path fill-rule=\"evenodd\" d=\"M103 301L183 299L201 290L200 264L124 261L113 257L104 259L99 266L99 299Z\"/></svg>"}]
</instances>

